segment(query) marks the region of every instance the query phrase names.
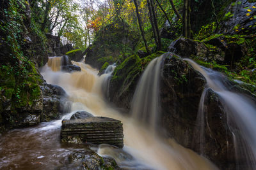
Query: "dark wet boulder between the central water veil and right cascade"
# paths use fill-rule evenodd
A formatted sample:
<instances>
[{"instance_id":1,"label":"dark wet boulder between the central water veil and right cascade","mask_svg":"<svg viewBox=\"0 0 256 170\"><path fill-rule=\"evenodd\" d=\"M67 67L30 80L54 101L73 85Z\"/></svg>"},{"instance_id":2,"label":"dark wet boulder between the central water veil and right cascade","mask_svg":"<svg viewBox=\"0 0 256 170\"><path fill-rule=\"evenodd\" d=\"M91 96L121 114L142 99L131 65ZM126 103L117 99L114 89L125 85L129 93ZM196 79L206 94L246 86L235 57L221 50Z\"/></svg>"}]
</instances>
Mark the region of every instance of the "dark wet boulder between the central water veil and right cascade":
<instances>
[{"instance_id":1,"label":"dark wet boulder between the central water veil and right cascade","mask_svg":"<svg viewBox=\"0 0 256 170\"><path fill-rule=\"evenodd\" d=\"M175 54L164 59L161 73L161 125L166 135L191 146L198 104L206 81Z\"/></svg>"}]
</instances>

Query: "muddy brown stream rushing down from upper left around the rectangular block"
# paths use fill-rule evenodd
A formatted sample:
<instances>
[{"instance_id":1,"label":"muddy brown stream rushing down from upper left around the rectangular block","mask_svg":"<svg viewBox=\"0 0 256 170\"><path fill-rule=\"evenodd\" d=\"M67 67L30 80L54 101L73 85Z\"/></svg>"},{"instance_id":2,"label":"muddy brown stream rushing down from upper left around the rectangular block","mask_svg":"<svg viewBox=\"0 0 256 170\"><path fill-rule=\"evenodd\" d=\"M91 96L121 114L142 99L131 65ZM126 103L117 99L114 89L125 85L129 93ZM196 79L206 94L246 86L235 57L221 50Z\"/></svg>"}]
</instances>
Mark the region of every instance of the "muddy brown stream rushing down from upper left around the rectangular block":
<instances>
[{"instance_id":1,"label":"muddy brown stream rushing down from upper left around the rectangular block","mask_svg":"<svg viewBox=\"0 0 256 170\"><path fill-rule=\"evenodd\" d=\"M126 169L216 169L204 157L172 140L163 141L152 136L152 131L134 118L124 117L109 107L102 95L102 80L111 72L97 76L98 71L89 65L72 62L81 67L81 71L64 73L60 71L60 62L61 58L51 57L41 73L47 83L63 87L73 102L71 113L65 118L69 118L76 111L84 110L95 116L116 118L124 124L124 148L117 150L112 146L100 145L97 148L99 155L113 157L120 167ZM155 59L148 67L157 71L160 62L161 58ZM145 75L149 73L150 70ZM15 129L2 136L0 169L54 169L60 166L64 157L81 149L79 146L67 147L60 144L60 127L61 120L56 120L36 127Z\"/></svg>"}]
</instances>

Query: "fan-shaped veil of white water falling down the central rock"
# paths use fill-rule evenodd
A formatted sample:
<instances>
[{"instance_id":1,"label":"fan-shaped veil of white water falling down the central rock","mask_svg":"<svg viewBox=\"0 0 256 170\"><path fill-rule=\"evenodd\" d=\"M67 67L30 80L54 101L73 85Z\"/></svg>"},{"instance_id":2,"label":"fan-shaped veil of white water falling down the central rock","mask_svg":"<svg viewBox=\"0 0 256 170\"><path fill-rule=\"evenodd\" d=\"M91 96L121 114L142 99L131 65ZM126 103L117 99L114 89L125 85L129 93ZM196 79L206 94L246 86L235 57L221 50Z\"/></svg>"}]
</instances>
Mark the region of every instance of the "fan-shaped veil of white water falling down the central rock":
<instances>
[{"instance_id":1,"label":"fan-shaped veil of white water falling down the central rock","mask_svg":"<svg viewBox=\"0 0 256 170\"><path fill-rule=\"evenodd\" d=\"M132 116L144 124L157 129L159 117L159 81L163 55L152 60L136 87L131 106Z\"/></svg>"}]
</instances>

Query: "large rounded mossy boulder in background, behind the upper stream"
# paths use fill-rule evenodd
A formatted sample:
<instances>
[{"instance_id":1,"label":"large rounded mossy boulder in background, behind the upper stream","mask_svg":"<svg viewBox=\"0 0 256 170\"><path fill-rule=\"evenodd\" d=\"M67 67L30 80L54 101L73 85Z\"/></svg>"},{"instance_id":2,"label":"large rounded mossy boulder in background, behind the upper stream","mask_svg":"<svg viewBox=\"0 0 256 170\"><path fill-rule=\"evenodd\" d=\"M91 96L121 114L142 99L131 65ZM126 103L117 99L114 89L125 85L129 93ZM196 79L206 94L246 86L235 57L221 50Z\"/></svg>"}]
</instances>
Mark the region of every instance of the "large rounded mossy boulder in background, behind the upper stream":
<instances>
[{"instance_id":1,"label":"large rounded mossy boulder in background, behind the upper stream","mask_svg":"<svg viewBox=\"0 0 256 170\"><path fill-rule=\"evenodd\" d=\"M88 47L85 63L97 69L105 62L113 64L120 54L125 55L134 50L138 37L137 32L116 17L111 24L96 32L92 46Z\"/></svg>"}]
</instances>

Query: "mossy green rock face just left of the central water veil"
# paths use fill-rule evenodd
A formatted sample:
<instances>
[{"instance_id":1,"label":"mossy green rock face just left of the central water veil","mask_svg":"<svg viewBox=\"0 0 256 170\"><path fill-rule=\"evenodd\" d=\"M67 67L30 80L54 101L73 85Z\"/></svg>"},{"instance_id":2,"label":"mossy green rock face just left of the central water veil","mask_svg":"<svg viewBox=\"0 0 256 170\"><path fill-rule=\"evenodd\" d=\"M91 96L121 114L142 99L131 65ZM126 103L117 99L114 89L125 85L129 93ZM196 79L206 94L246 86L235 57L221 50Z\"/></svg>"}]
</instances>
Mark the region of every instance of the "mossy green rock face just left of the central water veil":
<instances>
[{"instance_id":1,"label":"mossy green rock face just left of the central water veil","mask_svg":"<svg viewBox=\"0 0 256 170\"><path fill-rule=\"evenodd\" d=\"M159 57L164 52L156 52L140 59L138 55L127 57L116 66L109 85L109 101L118 107L129 109L138 80L150 60Z\"/></svg>"}]
</instances>

